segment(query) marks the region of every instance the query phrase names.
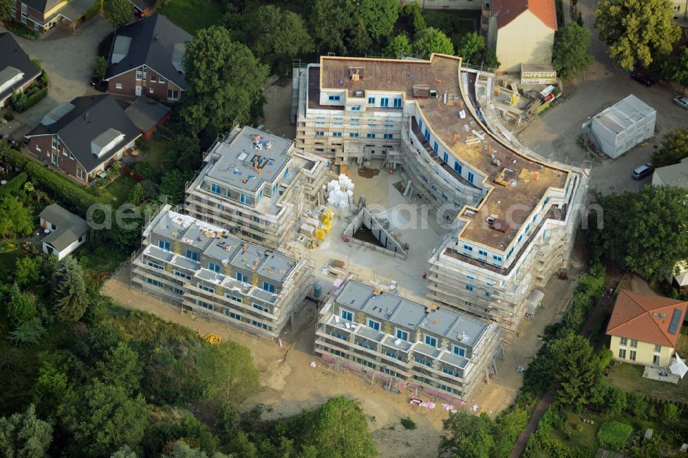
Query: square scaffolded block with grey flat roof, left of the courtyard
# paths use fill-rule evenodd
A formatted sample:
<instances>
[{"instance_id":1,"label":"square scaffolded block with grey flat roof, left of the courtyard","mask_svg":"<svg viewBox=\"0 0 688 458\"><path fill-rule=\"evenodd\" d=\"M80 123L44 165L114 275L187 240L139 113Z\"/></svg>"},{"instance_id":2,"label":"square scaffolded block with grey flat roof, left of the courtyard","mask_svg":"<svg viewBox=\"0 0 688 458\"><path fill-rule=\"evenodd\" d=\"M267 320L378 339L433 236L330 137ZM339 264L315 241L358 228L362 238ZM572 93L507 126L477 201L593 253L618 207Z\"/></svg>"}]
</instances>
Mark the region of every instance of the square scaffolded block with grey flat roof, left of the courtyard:
<instances>
[{"instance_id":1,"label":"square scaffolded block with grey flat roof, left of the courtyard","mask_svg":"<svg viewBox=\"0 0 688 458\"><path fill-rule=\"evenodd\" d=\"M294 142L236 127L204 156L186 186L184 210L241 239L277 248L293 239L303 210L323 204L327 160Z\"/></svg>"}]
</instances>

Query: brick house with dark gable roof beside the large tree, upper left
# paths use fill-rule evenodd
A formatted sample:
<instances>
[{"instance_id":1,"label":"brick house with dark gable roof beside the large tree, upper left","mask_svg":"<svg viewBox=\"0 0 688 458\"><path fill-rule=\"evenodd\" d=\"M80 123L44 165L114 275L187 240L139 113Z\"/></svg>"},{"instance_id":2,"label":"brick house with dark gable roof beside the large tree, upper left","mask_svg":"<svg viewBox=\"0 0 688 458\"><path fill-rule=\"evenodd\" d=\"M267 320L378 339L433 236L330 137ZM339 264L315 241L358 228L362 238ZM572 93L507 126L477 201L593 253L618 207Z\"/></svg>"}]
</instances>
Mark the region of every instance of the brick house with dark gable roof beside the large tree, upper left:
<instances>
[{"instance_id":1,"label":"brick house with dark gable roof beside the large tree, upper left","mask_svg":"<svg viewBox=\"0 0 688 458\"><path fill-rule=\"evenodd\" d=\"M107 58L107 91L155 100L180 100L186 91L182 68L185 43L193 37L169 19L153 14L118 28Z\"/></svg>"}]
</instances>

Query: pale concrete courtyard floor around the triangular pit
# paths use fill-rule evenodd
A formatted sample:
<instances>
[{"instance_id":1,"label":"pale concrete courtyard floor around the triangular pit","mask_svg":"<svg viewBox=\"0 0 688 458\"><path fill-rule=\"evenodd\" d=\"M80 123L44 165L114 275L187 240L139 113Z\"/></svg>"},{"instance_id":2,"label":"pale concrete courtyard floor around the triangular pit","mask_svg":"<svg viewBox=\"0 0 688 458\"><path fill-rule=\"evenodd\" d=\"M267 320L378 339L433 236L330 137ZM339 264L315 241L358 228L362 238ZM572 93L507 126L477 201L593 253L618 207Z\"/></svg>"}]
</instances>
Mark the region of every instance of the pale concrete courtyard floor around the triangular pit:
<instances>
[{"instance_id":1,"label":"pale concrete courtyard floor around the triangular pit","mask_svg":"<svg viewBox=\"0 0 688 458\"><path fill-rule=\"evenodd\" d=\"M389 220L389 230L397 232L400 240L409 244L407 259L344 242L342 232L354 215L350 210L341 209L333 209L332 230L325 235L321 246L316 250L305 250L304 254L314 260L314 276L323 287L323 293L331 290L335 279L332 275L323 274L323 268L331 259L338 259L358 275L359 280L381 283L394 280L402 295L422 301L426 294L422 275L427 271L429 254L447 230L438 226L435 216L428 213L427 204L420 199L407 199L395 188L398 182L405 182L401 175L391 175L382 166L381 161L372 162L370 168L379 170L379 173L369 178L360 176L357 166L349 167L354 182L354 202L365 195L366 206L374 215Z\"/></svg>"}]
</instances>

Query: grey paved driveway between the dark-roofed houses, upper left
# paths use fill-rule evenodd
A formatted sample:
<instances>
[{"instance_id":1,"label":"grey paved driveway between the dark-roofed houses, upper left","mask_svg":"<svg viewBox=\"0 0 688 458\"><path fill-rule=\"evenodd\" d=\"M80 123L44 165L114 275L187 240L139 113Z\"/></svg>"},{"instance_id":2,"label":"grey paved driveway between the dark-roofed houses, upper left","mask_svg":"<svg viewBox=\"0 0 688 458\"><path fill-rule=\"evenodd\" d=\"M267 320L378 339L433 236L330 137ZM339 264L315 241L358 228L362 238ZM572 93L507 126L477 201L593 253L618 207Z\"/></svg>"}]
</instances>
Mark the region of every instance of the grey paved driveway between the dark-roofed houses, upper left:
<instances>
[{"instance_id":1,"label":"grey paved driveway between the dark-roofed houses, upper left","mask_svg":"<svg viewBox=\"0 0 688 458\"><path fill-rule=\"evenodd\" d=\"M97 17L76 33L59 39L26 40L14 35L14 39L32 59L41 61L50 78L47 96L17 115L15 131L36 127L45 113L63 102L96 93L90 87L91 64L98 54L98 43L112 30L103 17ZM6 32L6 29L0 26L0 32Z\"/></svg>"}]
</instances>

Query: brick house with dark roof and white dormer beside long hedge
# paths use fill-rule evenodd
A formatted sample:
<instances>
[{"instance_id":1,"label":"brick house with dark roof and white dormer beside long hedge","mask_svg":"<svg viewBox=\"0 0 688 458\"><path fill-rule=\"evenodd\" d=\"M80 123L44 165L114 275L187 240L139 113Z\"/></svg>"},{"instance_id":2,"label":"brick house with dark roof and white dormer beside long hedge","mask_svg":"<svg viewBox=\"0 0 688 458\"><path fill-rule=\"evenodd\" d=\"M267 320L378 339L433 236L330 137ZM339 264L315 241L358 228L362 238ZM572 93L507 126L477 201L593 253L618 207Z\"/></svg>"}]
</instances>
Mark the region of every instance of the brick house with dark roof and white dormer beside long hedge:
<instances>
[{"instance_id":1,"label":"brick house with dark roof and white dormer beside long hedge","mask_svg":"<svg viewBox=\"0 0 688 458\"><path fill-rule=\"evenodd\" d=\"M63 103L25 135L31 153L85 183L119 160L140 136L109 94Z\"/></svg>"}]
</instances>

